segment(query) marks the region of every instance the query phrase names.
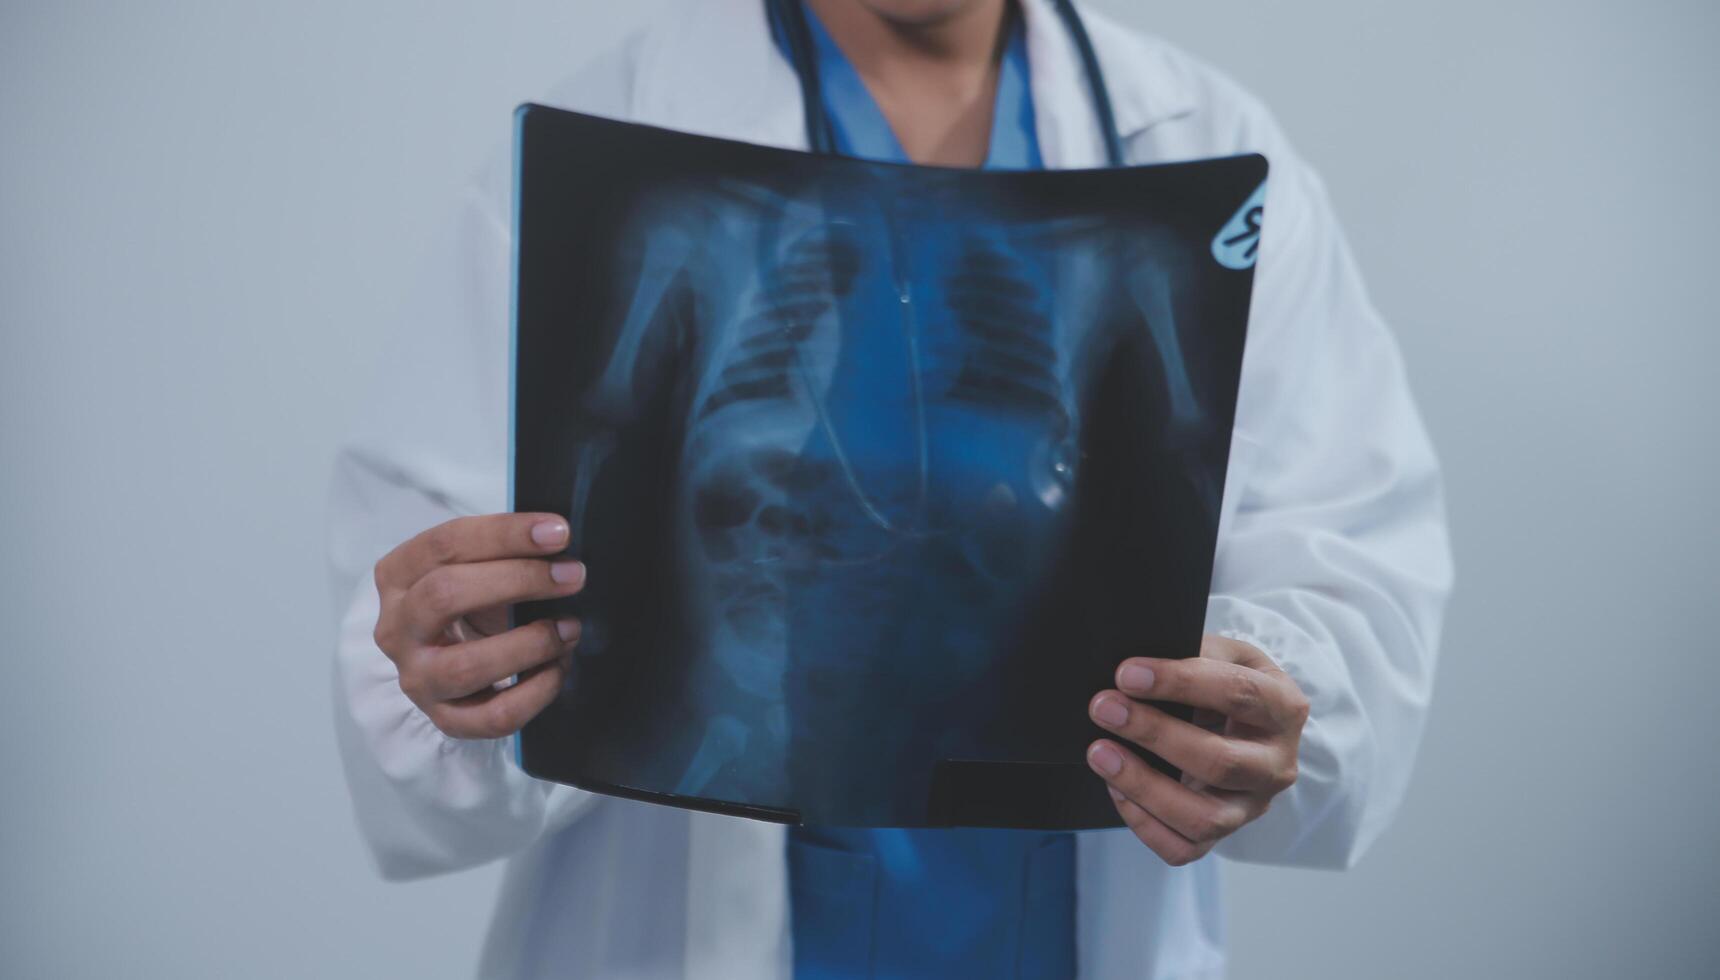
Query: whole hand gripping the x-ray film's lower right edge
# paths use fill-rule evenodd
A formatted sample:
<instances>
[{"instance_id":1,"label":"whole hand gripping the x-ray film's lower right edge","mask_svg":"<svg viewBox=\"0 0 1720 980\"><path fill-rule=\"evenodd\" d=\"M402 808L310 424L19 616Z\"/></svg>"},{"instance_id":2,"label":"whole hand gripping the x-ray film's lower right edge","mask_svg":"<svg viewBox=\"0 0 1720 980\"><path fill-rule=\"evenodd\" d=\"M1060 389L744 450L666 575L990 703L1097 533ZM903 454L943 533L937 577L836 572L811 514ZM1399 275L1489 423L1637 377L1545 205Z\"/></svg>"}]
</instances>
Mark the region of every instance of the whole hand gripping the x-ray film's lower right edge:
<instances>
[{"instance_id":1,"label":"whole hand gripping the x-ray film's lower right edge","mask_svg":"<svg viewBox=\"0 0 1720 980\"><path fill-rule=\"evenodd\" d=\"M1195 722L1146 703L1195 708ZM1218 841L1266 813L1297 777L1307 696L1257 646L1207 634L1189 660L1135 657L1116 689L1087 705L1092 720L1182 769L1182 781L1111 739L1087 748L1123 824L1170 865L1206 856Z\"/></svg>"}]
</instances>

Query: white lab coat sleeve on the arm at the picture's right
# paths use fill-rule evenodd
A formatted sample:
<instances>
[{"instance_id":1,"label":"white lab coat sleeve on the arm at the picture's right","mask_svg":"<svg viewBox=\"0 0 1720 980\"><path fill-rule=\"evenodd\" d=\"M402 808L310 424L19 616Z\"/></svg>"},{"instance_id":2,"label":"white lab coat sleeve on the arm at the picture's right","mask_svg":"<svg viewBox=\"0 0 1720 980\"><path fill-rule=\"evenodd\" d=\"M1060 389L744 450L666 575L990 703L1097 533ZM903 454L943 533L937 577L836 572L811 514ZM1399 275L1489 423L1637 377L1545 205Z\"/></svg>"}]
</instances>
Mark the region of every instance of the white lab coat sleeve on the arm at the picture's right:
<instances>
[{"instance_id":1,"label":"white lab coat sleeve on the arm at the picture's right","mask_svg":"<svg viewBox=\"0 0 1720 980\"><path fill-rule=\"evenodd\" d=\"M1228 858L1350 867L1404 799L1452 585L1440 468L1319 177L1264 110L1264 241L1207 629L1302 688L1300 777Z\"/></svg>"}]
</instances>

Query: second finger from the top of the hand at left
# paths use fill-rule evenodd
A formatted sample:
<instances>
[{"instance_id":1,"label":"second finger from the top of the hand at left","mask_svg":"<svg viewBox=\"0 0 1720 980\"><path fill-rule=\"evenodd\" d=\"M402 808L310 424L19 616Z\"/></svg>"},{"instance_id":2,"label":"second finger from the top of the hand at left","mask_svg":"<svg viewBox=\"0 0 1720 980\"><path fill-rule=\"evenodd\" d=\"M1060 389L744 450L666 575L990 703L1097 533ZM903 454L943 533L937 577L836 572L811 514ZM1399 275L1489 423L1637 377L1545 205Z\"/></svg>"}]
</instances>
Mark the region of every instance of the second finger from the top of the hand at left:
<instances>
[{"instance_id":1,"label":"second finger from the top of the hand at left","mask_svg":"<svg viewBox=\"0 0 1720 980\"><path fill-rule=\"evenodd\" d=\"M420 643L439 643L454 619L531 598L557 598L585 588L576 560L504 559L440 566L418 579L399 603L401 628Z\"/></svg>"}]
</instances>

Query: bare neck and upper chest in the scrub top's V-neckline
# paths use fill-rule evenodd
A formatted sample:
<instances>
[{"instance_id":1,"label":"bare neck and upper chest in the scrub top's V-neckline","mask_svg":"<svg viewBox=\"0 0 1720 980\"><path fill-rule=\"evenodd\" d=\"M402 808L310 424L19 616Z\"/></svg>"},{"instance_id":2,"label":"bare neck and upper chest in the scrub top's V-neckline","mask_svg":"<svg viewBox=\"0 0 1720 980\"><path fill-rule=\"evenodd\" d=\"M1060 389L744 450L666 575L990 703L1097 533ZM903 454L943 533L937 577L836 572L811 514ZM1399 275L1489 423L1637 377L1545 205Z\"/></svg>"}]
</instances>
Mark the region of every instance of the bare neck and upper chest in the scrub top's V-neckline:
<instances>
[{"instance_id":1,"label":"bare neck and upper chest in the scrub top's V-neckline","mask_svg":"<svg viewBox=\"0 0 1720 980\"><path fill-rule=\"evenodd\" d=\"M1011 0L946 0L946 10L913 17L893 15L891 0L803 2L860 72L912 160L956 167L986 160Z\"/></svg>"}]
</instances>

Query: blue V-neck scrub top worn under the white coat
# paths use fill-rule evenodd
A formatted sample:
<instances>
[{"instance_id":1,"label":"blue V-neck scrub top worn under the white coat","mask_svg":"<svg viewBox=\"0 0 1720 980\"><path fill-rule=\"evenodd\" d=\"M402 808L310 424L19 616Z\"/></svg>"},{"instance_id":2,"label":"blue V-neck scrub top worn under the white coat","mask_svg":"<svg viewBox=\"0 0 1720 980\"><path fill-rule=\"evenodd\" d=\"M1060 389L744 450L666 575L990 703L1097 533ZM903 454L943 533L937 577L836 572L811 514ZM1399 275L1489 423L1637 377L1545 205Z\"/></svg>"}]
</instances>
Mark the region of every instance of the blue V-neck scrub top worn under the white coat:
<instances>
[{"instance_id":1,"label":"blue V-neck scrub top worn under the white coat","mask_svg":"<svg viewBox=\"0 0 1720 980\"><path fill-rule=\"evenodd\" d=\"M860 74L812 10L807 22L836 150L908 163ZM1011 14L987 168L1042 167L1027 72ZM798 980L1075 975L1072 834L795 827L788 865Z\"/></svg>"}]
</instances>

